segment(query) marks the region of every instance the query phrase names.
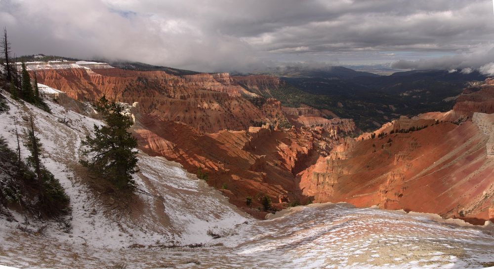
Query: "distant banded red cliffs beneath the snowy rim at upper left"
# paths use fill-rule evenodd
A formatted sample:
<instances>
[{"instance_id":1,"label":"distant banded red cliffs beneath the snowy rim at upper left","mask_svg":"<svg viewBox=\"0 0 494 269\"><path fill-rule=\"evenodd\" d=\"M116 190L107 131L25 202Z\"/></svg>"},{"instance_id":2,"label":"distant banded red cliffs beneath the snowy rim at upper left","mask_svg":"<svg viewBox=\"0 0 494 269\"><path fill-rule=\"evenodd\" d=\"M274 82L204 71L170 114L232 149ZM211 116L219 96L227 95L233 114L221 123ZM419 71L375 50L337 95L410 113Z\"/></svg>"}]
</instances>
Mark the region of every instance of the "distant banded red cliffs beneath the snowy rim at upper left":
<instances>
[{"instance_id":1,"label":"distant banded red cliffs beneath the snowy rim at upper left","mask_svg":"<svg viewBox=\"0 0 494 269\"><path fill-rule=\"evenodd\" d=\"M62 68L40 69L37 75L39 83L76 100L94 101L106 95L126 103L138 102L142 113L205 132L247 130L256 122L275 124L284 118L281 107L266 111L240 97L248 92L227 73L179 77L163 71Z\"/></svg>"}]
</instances>

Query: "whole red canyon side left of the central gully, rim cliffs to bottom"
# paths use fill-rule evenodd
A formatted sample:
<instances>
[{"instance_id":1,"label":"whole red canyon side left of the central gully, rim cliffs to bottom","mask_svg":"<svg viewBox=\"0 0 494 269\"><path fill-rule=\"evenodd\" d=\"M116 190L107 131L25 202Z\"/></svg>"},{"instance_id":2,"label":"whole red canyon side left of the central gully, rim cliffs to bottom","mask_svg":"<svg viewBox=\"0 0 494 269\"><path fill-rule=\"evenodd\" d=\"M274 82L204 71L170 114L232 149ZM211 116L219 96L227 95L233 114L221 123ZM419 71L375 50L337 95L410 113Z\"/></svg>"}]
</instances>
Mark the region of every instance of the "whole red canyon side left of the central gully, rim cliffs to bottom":
<instances>
[{"instance_id":1,"label":"whole red canyon side left of the central gully, rim cliffs to bottom","mask_svg":"<svg viewBox=\"0 0 494 269\"><path fill-rule=\"evenodd\" d=\"M291 118L302 124L291 128L279 101L267 99L254 105L242 97L255 96L244 87L259 91L278 87L280 80L272 76L176 76L76 64L31 69L38 69L40 83L76 100L94 101L106 95L132 103L140 149L179 162L192 173L202 168L208 173L208 184L227 186L223 193L230 201L257 216L260 213L245 204L247 196L254 198L254 208L264 195L279 208L289 201L303 201L296 174L326 156L342 141L343 133L355 131L352 120L324 119L333 115L311 107L295 109Z\"/></svg>"}]
</instances>

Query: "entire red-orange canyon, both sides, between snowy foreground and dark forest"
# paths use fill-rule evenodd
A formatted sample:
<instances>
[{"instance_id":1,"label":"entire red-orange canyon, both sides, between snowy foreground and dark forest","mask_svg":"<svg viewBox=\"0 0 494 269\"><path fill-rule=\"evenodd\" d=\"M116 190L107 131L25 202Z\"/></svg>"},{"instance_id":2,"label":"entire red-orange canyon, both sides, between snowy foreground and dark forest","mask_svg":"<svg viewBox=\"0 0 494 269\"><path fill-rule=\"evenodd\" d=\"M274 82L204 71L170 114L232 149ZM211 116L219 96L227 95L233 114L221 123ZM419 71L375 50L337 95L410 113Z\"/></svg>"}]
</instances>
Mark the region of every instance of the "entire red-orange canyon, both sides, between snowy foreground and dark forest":
<instances>
[{"instance_id":1,"label":"entire red-orange canyon, both sides, between snowy foreground and dark forest","mask_svg":"<svg viewBox=\"0 0 494 269\"><path fill-rule=\"evenodd\" d=\"M207 174L210 186L258 218L266 214L264 196L275 209L349 202L475 224L494 218L493 80L465 89L451 111L402 116L358 135L352 119L332 111L262 98L286 83L270 75L178 75L88 62L28 68L68 97L57 97L62 104L103 95L129 104L142 151Z\"/></svg>"}]
</instances>

